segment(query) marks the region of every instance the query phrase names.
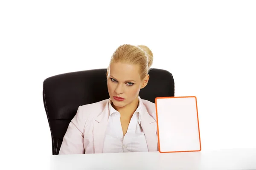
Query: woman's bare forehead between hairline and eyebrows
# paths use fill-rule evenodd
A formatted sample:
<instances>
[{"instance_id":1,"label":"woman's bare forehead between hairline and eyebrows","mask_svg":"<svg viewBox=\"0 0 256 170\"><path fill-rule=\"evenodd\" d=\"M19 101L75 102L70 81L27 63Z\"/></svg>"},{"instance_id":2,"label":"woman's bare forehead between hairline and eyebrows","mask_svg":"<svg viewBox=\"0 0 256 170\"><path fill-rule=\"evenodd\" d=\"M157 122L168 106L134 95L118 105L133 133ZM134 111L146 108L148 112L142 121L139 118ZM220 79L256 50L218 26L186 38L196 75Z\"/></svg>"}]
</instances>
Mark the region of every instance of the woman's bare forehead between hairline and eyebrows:
<instances>
[{"instance_id":1,"label":"woman's bare forehead between hairline and eyebrows","mask_svg":"<svg viewBox=\"0 0 256 170\"><path fill-rule=\"evenodd\" d=\"M139 65L127 64L127 63L111 63L109 67L109 73L119 81L125 80L140 80Z\"/></svg>"}]
</instances>

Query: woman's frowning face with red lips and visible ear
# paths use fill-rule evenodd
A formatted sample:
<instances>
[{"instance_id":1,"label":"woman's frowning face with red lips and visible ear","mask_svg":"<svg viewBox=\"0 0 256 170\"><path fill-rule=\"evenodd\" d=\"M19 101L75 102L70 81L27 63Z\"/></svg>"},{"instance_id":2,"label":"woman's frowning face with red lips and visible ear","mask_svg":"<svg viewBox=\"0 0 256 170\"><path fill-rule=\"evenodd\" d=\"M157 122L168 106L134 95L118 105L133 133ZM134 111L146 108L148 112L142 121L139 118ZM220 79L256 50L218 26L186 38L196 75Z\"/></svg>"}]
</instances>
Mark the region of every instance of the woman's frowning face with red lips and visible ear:
<instances>
[{"instance_id":1,"label":"woman's frowning face with red lips and visible ear","mask_svg":"<svg viewBox=\"0 0 256 170\"><path fill-rule=\"evenodd\" d=\"M108 74L108 93L116 107L124 107L137 99L149 76L140 79L139 65L111 63Z\"/></svg>"}]
</instances>

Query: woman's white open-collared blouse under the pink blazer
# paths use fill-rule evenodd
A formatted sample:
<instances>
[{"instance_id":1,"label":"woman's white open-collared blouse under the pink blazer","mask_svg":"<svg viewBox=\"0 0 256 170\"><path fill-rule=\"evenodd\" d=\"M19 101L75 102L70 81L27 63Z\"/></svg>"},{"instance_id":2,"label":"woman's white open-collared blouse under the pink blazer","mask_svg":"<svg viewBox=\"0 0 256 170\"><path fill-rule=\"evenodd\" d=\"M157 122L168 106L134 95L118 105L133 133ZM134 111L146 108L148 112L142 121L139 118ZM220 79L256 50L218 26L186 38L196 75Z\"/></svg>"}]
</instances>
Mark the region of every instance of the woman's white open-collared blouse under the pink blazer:
<instances>
[{"instance_id":1,"label":"woman's white open-collared blouse under the pink blazer","mask_svg":"<svg viewBox=\"0 0 256 170\"><path fill-rule=\"evenodd\" d=\"M123 136L120 113L116 111L109 101L109 119L106 130L103 153L120 152L148 152L147 142L143 129L140 126L142 101L139 97L139 106L134 112L128 125L128 130Z\"/></svg>"}]
</instances>

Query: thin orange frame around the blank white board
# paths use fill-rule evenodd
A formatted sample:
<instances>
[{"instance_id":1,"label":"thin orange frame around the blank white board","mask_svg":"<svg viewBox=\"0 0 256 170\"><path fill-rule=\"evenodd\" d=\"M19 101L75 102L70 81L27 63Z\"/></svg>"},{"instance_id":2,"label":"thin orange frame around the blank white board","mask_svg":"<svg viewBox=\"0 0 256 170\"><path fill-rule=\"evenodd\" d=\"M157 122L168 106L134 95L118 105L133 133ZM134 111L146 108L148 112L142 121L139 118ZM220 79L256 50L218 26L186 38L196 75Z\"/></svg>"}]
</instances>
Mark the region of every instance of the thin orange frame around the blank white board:
<instances>
[{"instance_id":1,"label":"thin orange frame around the blank white board","mask_svg":"<svg viewBox=\"0 0 256 170\"><path fill-rule=\"evenodd\" d=\"M187 150L187 151L169 151L169 152L161 152L161 149L160 149L160 138L159 138L159 127L158 127L158 115L157 115L157 99L188 98L188 97L195 97L196 113L197 113L197 120L198 120L198 134L199 134L200 150ZM157 98L155 98L155 106L156 106L156 116L157 116L157 138L158 138L158 151L159 151L160 153L200 152L200 151L201 151L201 137L200 137L200 128L199 128L199 119L198 119L198 105L197 105L197 99L196 99L196 96L182 96L182 97L157 97Z\"/></svg>"}]
</instances>

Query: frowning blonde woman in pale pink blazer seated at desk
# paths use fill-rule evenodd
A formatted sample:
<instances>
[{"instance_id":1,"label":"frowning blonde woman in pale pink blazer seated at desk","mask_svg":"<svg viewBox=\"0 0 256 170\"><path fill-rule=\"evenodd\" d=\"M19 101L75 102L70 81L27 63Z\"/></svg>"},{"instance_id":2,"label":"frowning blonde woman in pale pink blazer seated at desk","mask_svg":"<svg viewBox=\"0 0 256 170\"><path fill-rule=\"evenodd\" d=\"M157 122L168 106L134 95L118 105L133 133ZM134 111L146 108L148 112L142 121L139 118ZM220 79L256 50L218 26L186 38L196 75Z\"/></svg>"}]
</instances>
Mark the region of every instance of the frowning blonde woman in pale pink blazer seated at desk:
<instances>
[{"instance_id":1,"label":"frowning blonde woman in pale pink blazer seated at desk","mask_svg":"<svg viewBox=\"0 0 256 170\"><path fill-rule=\"evenodd\" d=\"M153 54L145 45L121 45L107 71L110 98L79 106L59 154L158 151L155 104L141 99Z\"/></svg>"}]
</instances>

